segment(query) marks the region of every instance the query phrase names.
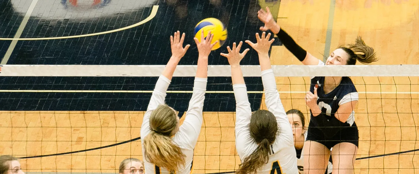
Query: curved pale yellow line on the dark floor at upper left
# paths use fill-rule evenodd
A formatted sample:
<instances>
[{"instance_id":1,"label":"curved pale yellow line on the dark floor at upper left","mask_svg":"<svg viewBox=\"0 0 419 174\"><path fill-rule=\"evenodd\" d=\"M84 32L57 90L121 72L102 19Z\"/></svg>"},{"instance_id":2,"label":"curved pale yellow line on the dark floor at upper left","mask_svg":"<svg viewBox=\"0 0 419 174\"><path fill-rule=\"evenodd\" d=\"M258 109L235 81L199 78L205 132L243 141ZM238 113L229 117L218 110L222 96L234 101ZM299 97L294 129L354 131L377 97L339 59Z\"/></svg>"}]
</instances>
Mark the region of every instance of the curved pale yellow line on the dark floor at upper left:
<instances>
[{"instance_id":1,"label":"curved pale yellow line on the dark floor at upper left","mask_svg":"<svg viewBox=\"0 0 419 174\"><path fill-rule=\"evenodd\" d=\"M0 40L49 40L49 39L68 39L68 38L80 38L80 37L86 37L86 36L92 36L92 35L103 35L103 34L107 34L107 33L114 33L114 32L117 32L117 31L122 31L122 30L127 30L129 28L134 28L134 27L136 27L138 25L141 25L141 24L144 24L144 23L150 21L157 14L157 10L158 10L158 5L153 5L153 9L151 10L151 14L147 18L145 18L144 20L140 21L139 23L136 23L134 25L129 25L129 26L126 26L124 28L118 28L118 29L115 29L115 30L109 30L109 31L104 31L104 32L100 32L100 33L91 33L91 34L85 34L85 35L62 36L62 37L53 37L53 38L0 38Z\"/></svg>"}]
</instances>

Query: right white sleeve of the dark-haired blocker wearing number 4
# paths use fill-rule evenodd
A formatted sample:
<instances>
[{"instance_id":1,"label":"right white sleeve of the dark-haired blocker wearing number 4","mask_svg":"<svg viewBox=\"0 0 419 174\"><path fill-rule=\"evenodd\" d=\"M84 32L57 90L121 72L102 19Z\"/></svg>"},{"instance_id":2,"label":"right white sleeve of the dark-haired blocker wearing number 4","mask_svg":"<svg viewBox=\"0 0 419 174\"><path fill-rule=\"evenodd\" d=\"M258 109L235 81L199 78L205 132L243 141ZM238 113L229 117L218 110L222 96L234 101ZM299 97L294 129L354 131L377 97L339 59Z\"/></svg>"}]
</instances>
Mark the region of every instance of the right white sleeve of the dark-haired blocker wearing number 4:
<instances>
[{"instance_id":1,"label":"right white sleeve of the dark-haired blocker wearing number 4","mask_svg":"<svg viewBox=\"0 0 419 174\"><path fill-rule=\"evenodd\" d=\"M289 141L294 141L292 137L292 128L282 106L281 98L277 90L274 71L272 69L262 71L262 83L265 91L265 103L268 111L272 112L277 119L277 124L281 130L279 136Z\"/></svg>"}]
</instances>

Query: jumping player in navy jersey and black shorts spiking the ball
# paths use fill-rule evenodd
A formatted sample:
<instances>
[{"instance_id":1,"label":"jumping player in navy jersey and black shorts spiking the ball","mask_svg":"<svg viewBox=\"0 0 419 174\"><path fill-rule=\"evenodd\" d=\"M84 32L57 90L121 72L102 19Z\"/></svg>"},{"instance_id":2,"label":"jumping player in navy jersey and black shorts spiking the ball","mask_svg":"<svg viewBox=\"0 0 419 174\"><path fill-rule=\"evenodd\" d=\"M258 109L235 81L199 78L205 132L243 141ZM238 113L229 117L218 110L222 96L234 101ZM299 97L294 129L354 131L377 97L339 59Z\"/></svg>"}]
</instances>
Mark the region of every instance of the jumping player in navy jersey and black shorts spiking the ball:
<instances>
[{"instance_id":1,"label":"jumping player in navy jersey and black shorts spiking the ball","mask_svg":"<svg viewBox=\"0 0 419 174\"><path fill-rule=\"evenodd\" d=\"M283 45L304 65L325 65L301 48L277 25L269 8L259 10L259 19L265 23L260 29L276 33ZM342 45L326 60L326 65L355 65L377 61L374 49L358 37L355 44ZM353 174L358 150L358 128L354 107L358 93L349 77L312 77L310 92L306 93L310 108L307 141L304 143L304 173L323 174L330 154L333 174ZM333 149L332 149L333 148Z\"/></svg>"}]
</instances>

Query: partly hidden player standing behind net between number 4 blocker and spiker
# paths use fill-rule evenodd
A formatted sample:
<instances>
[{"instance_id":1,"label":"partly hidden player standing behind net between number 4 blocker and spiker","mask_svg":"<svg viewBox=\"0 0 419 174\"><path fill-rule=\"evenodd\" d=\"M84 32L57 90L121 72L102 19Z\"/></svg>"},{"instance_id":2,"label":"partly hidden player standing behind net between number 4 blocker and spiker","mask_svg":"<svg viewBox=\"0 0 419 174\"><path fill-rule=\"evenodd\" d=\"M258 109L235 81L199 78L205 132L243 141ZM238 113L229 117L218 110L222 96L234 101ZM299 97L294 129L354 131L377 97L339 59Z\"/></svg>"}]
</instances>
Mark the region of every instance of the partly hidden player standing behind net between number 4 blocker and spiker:
<instances>
[{"instance_id":1,"label":"partly hidden player standing behind net between number 4 blocker and spiker","mask_svg":"<svg viewBox=\"0 0 419 174\"><path fill-rule=\"evenodd\" d=\"M297 153L297 167L300 174L304 174L304 142L307 140L307 127L305 127L305 116L297 109L287 111L288 121L292 126L292 134L294 135L295 152ZM325 174L331 174L333 165L331 156Z\"/></svg>"}]
</instances>

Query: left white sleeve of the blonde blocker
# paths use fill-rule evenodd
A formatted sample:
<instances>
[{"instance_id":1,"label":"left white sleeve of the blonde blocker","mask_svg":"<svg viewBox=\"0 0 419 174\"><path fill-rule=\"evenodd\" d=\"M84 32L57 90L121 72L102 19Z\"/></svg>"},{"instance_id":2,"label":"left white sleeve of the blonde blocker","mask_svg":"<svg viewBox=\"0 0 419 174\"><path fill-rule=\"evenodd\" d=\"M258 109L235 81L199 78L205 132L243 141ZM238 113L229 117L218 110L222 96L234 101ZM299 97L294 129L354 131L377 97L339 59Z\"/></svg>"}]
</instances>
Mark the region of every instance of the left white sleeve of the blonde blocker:
<instances>
[{"instance_id":1,"label":"left white sleeve of the blonde blocker","mask_svg":"<svg viewBox=\"0 0 419 174\"><path fill-rule=\"evenodd\" d=\"M147 136L148 133L150 133L151 112L153 112L157 108L157 106L164 104L164 100L166 98L166 91L169 87L170 82L171 81L163 75L160 75L160 77L158 78L156 86L154 87L153 94L151 95L147 111L144 113L144 117L142 118L140 132L141 138L144 138L145 136Z\"/></svg>"}]
</instances>

